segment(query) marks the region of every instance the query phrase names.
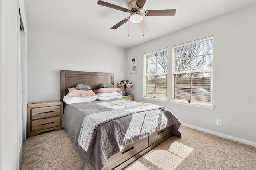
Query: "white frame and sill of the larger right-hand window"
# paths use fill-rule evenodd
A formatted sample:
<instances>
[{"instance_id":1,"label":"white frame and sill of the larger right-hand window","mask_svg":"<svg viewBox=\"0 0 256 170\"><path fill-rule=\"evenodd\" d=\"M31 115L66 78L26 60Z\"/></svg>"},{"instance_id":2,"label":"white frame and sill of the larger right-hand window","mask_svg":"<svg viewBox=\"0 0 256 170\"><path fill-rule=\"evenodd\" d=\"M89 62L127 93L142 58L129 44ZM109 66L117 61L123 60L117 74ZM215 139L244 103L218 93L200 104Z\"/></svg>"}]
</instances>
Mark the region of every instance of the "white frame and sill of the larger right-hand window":
<instances>
[{"instance_id":1,"label":"white frame and sill of the larger right-hand window","mask_svg":"<svg viewBox=\"0 0 256 170\"><path fill-rule=\"evenodd\" d=\"M180 72L176 72L176 54L175 54L175 49L177 47L182 47L182 46L186 46L186 45L191 45L191 44L194 44L194 43L197 43L197 42L201 42L201 41L207 41L209 39L212 39L212 48L214 47L214 39L213 39L213 36L210 36L210 37L205 37L205 38L202 38L202 39L198 39L198 40L195 40L195 41L190 41L190 42L187 42L187 43L182 43L180 45L175 45L172 47L172 96L171 96L171 100L170 102L171 103L174 103L174 104L182 104L182 105L188 105L188 106L196 106L196 107L204 107L204 108L210 108L210 109L213 109L214 106L212 104L212 94L213 94L213 66L212 66L212 69L206 69L206 70L190 70L190 71L180 71ZM214 55L214 52L212 52L212 62L213 62L213 56ZM213 63L212 63L213 64ZM210 92L210 103L204 103L204 102L193 102L191 101L190 103L188 103L187 101L185 100L179 100L179 99L174 99L174 95L175 95L175 74L178 74L178 73L181 73L181 74L184 74L184 73L193 73L193 72L210 72L210 76L211 76L211 80L210 80L210 88L211 88L211 92Z\"/></svg>"}]
</instances>

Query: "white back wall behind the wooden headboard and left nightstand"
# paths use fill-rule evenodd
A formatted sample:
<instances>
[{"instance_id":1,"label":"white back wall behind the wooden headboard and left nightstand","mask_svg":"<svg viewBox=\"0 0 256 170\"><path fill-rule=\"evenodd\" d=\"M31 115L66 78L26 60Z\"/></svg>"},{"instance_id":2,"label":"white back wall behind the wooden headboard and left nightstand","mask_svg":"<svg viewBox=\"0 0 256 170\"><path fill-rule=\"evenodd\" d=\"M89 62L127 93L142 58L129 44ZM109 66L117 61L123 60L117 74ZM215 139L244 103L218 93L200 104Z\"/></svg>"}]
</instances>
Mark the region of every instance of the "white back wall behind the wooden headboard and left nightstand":
<instances>
[{"instance_id":1,"label":"white back wall behind the wooden headboard and left nightstand","mask_svg":"<svg viewBox=\"0 0 256 170\"><path fill-rule=\"evenodd\" d=\"M125 49L31 23L27 39L28 103L56 100L60 70L110 72L114 82L126 76Z\"/></svg>"}]
</instances>

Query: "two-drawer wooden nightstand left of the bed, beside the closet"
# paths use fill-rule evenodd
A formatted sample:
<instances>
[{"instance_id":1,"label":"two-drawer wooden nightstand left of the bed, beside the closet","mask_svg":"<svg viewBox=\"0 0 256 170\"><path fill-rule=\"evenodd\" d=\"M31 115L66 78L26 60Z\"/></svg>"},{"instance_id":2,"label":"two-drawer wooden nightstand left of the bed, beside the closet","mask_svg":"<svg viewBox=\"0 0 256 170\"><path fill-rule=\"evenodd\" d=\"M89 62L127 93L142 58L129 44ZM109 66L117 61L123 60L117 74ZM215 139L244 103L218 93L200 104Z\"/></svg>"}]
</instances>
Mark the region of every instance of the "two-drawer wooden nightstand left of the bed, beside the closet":
<instances>
[{"instance_id":1,"label":"two-drawer wooden nightstand left of the bed, beside the closet","mask_svg":"<svg viewBox=\"0 0 256 170\"><path fill-rule=\"evenodd\" d=\"M58 131L62 128L63 103L61 101L28 104L27 138L45 131Z\"/></svg>"}]
</instances>

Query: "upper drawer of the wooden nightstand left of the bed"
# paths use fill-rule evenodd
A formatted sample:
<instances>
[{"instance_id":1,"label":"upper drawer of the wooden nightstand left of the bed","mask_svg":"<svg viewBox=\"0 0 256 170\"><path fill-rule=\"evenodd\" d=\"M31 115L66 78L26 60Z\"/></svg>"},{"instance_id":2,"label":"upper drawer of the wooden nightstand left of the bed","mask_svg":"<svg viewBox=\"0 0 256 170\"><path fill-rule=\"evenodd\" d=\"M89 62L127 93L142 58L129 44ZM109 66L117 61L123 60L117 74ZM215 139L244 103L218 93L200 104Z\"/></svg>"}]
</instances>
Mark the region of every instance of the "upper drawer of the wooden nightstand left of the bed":
<instances>
[{"instance_id":1,"label":"upper drawer of the wooden nightstand left of the bed","mask_svg":"<svg viewBox=\"0 0 256 170\"><path fill-rule=\"evenodd\" d=\"M60 106L39 107L31 109L31 119L42 119L60 115Z\"/></svg>"}]
</instances>

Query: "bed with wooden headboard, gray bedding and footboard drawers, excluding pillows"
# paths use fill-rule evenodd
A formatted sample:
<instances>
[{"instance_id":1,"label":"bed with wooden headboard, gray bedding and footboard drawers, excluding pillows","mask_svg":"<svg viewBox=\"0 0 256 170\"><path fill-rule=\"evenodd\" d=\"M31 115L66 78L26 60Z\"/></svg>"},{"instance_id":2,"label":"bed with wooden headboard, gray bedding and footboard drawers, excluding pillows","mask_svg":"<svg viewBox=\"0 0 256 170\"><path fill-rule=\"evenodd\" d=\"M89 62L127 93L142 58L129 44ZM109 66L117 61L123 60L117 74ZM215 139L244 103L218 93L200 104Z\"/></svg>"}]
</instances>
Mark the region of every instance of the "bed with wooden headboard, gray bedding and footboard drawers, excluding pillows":
<instances>
[{"instance_id":1,"label":"bed with wooden headboard, gray bedding and footboard drawers, excluding pillows","mask_svg":"<svg viewBox=\"0 0 256 170\"><path fill-rule=\"evenodd\" d=\"M97 90L114 84L114 74L61 70L61 99L68 88ZM163 106L124 100L65 104L62 126L84 160L81 170L122 169L167 138L181 137L178 118Z\"/></svg>"}]
</instances>

